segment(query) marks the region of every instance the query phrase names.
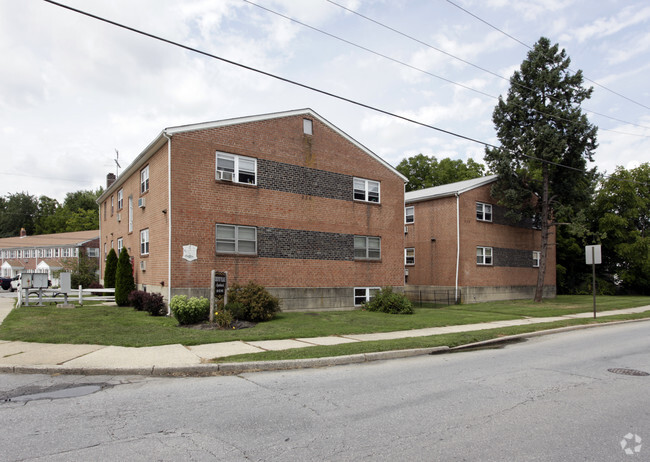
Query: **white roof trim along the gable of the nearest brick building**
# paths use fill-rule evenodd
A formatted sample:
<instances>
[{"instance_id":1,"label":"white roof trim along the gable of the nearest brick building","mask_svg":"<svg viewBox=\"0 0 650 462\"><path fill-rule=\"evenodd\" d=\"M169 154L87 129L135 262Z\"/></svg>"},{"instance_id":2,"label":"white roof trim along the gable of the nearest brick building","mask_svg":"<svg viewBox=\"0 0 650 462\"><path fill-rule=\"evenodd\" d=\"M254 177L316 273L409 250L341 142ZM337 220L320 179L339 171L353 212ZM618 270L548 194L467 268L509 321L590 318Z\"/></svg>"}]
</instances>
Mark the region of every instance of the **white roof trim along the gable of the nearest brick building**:
<instances>
[{"instance_id":1,"label":"white roof trim along the gable of the nearest brick building","mask_svg":"<svg viewBox=\"0 0 650 462\"><path fill-rule=\"evenodd\" d=\"M254 116L246 116L246 117L237 117L237 118L232 118L232 119L224 119L224 120L217 120L213 122L202 122L202 123L197 123L197 124L189 124L189 125L179 125L176 127L168 127L165 128L163 131L160 132L160 134L151 142L149 145L138 155L138 157L135 158L133 162L122 172L122 174L117 177L115 182L108 188L106 188L106 191L104 191L104 194L102 194L98 199L97 203L101 204L106 200L107 197L109 197L110 194L113 194L113 192L119 190L119 187L124 183L124 181L130 177L135 171L139 170L146 162L147 160L158 150L160 149L166 142L167 139L165 135L167 136L173 136L177 133L187 133L187 132L192 132L192 131L197 131L197 130L207 130L210 128L218 128L218 127L226 127L230 125L238 125L238 124L245 124L245 123L251 123L251 122L260 122L264 120L270 120L270 119L280 119L283 117L293 117L297 115L306 115L306 116L311 116L314 117L315 119L318 119L320 122L323 124L327 125L329 128L331 128L333 131L341 135L343 138L347 139L349 142L354 144L356 147L364 151L366 154L368 154L370 157L373 159L377 160L380 162L384 167L388 168L390 171L395 173L397 176L402 178L404 181L408 181L408 178L406 178L404 175L402 175L395 167L390 165L388 162L386 162L384 159L379 157L377 154L372 152L370 149L359 143L357 140L349 136L347 133L342 131L340 128L336 127L332 123L330 123L328 120L324 119L321 117L319 114L317 114L315 111L309 108L305 109L296 109L292 111L285 111L285 112L273 112L269 114L260 114L260 115L254 115Z\"/></svg>"}]
</instances>

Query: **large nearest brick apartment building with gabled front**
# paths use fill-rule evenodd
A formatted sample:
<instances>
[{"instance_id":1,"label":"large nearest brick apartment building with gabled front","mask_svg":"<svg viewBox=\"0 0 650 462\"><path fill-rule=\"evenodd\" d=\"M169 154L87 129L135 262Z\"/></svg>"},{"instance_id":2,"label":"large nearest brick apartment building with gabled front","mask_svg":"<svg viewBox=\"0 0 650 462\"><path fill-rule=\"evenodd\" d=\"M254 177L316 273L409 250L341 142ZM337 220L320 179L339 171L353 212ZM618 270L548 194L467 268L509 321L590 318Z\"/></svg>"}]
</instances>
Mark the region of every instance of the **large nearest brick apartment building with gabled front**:
<instances>
[{"instance_id":1,"label":"large nearest brick apartment building with gabled front","mask_svg":"<svg viewBox=\"0 0 650 462\"><path fill-rule=\"evenodd\" d=\"M284 310L351 308L404 284L405 180L310 109L167 128L109 175L101 251L167 300L207 296L214 269Z\"/></svg>"}]
</instances>

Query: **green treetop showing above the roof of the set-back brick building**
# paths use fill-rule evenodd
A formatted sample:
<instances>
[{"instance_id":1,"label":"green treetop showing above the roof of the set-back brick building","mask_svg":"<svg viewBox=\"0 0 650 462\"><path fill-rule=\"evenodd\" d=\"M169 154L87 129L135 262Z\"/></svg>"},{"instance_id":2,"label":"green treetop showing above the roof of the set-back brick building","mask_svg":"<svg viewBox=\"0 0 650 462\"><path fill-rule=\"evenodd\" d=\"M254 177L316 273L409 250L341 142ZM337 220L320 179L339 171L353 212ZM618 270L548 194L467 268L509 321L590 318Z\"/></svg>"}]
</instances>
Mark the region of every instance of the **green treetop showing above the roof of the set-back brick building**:
<instances>
[{"instance_id":1,"label":"green treetop showing above the roof of the set-back brick building","mask_svg":"<svg viewBox=\"0 0 650 462\"><path fill-rule=\"evenodd\" d=\"M424 154L403 159L397 165L397 170L409 179L406 184L407 192L471 180L485 174L485 167L473 159L467 159L467 163L449 158L438 162L435 156Z\"/></svg>"}]
</instances>

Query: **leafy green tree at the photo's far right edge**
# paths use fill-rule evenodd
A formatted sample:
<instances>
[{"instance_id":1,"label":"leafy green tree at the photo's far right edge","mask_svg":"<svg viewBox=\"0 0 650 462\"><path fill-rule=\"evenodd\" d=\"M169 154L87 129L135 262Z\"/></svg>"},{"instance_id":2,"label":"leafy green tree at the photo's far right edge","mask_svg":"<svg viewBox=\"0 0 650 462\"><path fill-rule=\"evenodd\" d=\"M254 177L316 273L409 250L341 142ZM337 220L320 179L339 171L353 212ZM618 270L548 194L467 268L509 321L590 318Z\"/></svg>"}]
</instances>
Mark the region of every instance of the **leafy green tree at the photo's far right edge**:
<instances>
[{"instance_id":1,"label":"leafy green tree at the photo's far right edge","mask_svg":"<svg viewBox=\"0 0 650 462\"><path fill-rule=\"evenodd\" d=\"M603 235L599 270L628 292L650 295L650 163L604 179L593 216Z\"/></svg>"}]
</instances>

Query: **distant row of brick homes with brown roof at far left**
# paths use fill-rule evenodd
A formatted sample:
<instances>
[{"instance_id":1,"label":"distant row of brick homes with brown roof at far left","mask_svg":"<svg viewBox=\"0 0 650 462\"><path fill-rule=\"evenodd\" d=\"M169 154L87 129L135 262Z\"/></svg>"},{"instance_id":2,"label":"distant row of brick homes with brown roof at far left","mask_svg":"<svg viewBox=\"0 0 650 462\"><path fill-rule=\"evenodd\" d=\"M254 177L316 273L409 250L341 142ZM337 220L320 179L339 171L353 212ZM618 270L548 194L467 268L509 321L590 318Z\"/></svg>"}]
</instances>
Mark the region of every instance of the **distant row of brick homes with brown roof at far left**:
<instances>
[{"instance_id":1,"label":"distant row of brick homes with brown roof at far left","mask_svg":"<svg viewBox=\"0 0 650 462\"><path fill-rule=\"evenodd\" d=\"M28 236L22 229L20 236L0 239L0 271L3 277L47 273L57 285L56 272L80 254L99 260L99 230Z\"/></svg>"}]
</instances>

